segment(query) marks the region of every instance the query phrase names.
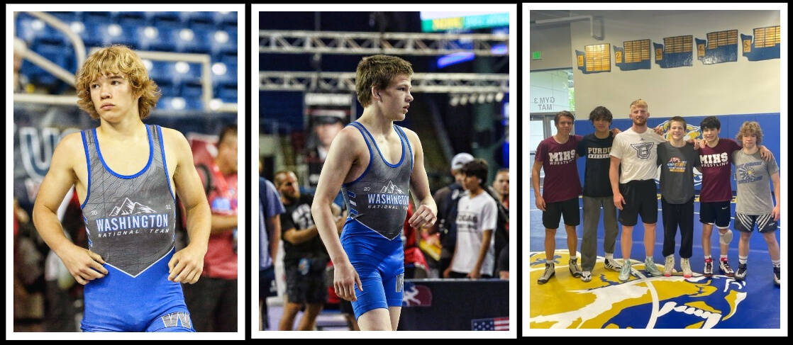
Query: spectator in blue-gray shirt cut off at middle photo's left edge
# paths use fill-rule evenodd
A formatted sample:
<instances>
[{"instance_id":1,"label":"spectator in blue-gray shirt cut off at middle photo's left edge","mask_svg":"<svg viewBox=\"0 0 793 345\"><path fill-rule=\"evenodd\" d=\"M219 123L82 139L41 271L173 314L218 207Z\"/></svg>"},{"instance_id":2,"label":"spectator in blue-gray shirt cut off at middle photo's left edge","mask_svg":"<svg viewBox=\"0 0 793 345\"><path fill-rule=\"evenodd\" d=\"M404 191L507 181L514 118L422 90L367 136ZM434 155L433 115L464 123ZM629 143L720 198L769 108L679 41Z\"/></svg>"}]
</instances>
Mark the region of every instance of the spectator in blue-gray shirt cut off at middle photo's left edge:
<instances>
[{"instance_id":1,"label":"spectator in blue-gray shirt cut off at middle photo's left edge","mask_svg":"<svg viewBox=\"0 0 793 345\"><path fill-rule=\"evenodd\" d=\"M259 165L261 167L261 165ZM281 241L281 217L284 204L275 186L264 177L259 177L259 329L270 329L267 320L266 298L278 294L275 286L273 263Z\"/></svg>"}]
</instances>

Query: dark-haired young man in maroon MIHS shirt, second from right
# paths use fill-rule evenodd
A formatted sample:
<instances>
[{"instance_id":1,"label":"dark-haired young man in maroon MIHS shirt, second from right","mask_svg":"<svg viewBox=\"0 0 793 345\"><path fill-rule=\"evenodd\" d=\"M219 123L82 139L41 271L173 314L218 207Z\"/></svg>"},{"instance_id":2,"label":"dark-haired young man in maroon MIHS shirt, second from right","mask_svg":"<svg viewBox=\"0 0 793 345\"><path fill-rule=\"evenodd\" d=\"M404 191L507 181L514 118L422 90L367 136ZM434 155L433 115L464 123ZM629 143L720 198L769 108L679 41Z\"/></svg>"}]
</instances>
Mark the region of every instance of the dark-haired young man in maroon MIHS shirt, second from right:
<instances>
[{"instance_id":1,"label":"dark-haired young man in maroon MIHS shirt, second from right","mask_svg":"<svg viewBox=\"0 0 793 345\"><path fill-rule=\"evenodd\" d=\"M713 225L718 228L718 242L721 258L718 267L722 274L734 276L727 259L727 251L733 232L730 230L730 200L733 198L730 184L730 163L734 151L741 146L733 139L718 138L722 124L716 116L708 116L699 123L704 140L699 144L699 161L702 163L702 189L699 194L699 222L702 223L702 249L705 254L703 275L713 276L711 258L711 234ZM773 159L771 151L760 147L760 156L765 160Z\"/></svg>"}]
</instances>

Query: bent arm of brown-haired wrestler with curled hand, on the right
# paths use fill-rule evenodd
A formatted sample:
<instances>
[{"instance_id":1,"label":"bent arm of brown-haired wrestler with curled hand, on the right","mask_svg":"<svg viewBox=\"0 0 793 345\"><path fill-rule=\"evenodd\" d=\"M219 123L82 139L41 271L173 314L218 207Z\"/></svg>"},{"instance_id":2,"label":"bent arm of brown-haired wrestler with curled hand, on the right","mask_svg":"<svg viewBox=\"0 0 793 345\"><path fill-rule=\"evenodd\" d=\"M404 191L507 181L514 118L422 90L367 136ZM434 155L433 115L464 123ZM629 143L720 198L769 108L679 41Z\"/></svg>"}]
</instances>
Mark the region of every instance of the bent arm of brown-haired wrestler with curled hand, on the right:
<instances>
[{"instance_id":1,"label":"bent arm of brown-haired wrestler with curled hand, on the right","mask_svg":"<svg viewBox=\"0 0 793 345\"><path fill-rule=\"evenodd\" d=\"M424 169L424 152L421 147L421 140L416 132L407 128L404 134L408 137L413 148L413 171L410 174L410 189L416 196L416 212L408 220L410 226L420 229L424 226L432 226L438 220L438 206L430 193L430 182L427 179L427 170Z\"/></svg>"}]
</instances>

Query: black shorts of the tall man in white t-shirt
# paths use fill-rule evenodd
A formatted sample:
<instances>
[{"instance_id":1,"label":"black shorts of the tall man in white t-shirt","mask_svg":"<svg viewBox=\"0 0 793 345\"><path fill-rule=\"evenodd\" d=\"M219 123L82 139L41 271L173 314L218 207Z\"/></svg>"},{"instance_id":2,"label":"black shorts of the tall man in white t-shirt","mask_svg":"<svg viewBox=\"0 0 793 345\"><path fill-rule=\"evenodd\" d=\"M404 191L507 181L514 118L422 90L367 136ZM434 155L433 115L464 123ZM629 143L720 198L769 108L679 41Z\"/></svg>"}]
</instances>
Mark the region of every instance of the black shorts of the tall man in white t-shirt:
<instances>
[{"instance_id":1,"label":"black shorts of the tall man in white t-shirt","mask_svg":"<svg viewBox=\"0 0 793 345\"><path fill-rule=\"evenodd\" d=\"M642 222L655 224L658 222L658 195L655 180L633 180L619 184L619 193L623 195L625 204L619 211L619 223L623 226L635 226L638 216Z\"/></svg>"}]
</instances>

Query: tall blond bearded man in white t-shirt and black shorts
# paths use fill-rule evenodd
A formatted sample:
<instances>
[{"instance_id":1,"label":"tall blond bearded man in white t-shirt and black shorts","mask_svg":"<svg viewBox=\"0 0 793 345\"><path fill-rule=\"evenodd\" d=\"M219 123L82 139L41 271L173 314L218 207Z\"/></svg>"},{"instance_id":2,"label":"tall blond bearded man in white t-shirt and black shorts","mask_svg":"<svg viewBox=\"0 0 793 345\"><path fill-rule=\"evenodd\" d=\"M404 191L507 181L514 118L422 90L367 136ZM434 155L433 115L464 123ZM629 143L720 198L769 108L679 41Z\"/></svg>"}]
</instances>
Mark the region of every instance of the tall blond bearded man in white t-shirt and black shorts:
<instances>
[{"instance_id":1,"label":"tall blond bearded man in white t-shirt and black shorts","mask_svg":"<svg viewBox=\"0 0 793 345\"><path fill-rule=\"evenodd\" d=\"M634 226L639 214L644 222L645 269L653 276L661 276L661 270L653 262L655 249L655 224L658 221L658 200L655 176L657 175L657 146L665 138L648 131L649 112L645 100L634 100L630 104L630 119L633 126L614 137L611 146L611 168L608 175L614 206L619 208L619 222L623 225L620 247L623 250L623 267L619 280L630 278L630 248L633 246ZM620 172L620 168L622 168Z\"/></svg>"}]
</instances>

